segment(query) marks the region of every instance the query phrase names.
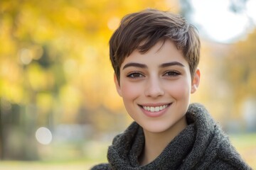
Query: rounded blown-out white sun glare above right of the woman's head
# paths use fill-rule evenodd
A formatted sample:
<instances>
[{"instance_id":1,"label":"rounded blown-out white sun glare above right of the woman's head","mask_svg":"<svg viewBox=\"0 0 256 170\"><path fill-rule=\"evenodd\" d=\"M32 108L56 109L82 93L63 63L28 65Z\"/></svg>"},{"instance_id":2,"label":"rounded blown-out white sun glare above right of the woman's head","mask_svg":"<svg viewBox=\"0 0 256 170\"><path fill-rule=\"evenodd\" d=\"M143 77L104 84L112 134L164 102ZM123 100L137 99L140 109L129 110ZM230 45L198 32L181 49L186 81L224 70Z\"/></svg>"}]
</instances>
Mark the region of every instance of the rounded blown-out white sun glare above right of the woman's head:
<instances>
[{"instance_id":1,"label":"rounded blown-out white sun glare above right of the woman's head","mask_svg":"<svg viewBox=\"0 0 256 170\"><path fill-rule=\"evenodd\" d=\"M230 11L230 1L193 0L193 20L203 33L217 42L232 42L248 28L245 13Z\"/></svg>"}]
</instances>

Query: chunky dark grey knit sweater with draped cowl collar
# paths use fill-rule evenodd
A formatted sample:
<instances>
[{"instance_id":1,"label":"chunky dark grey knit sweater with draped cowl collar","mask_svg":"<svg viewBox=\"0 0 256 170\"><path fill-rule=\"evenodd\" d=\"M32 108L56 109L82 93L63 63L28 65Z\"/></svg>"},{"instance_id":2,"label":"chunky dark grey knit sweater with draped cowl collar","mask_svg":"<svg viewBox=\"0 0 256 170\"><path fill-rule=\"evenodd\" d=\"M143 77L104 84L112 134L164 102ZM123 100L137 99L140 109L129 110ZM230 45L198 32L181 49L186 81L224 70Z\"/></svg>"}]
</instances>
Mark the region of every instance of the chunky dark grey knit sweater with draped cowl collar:
<instances>
[{"instance_id":1,"label":"chunky dark grey knit sweater with draped cowl collar","mask_svg":"<svg viewBox=\"0 0 256 170\"><path fill-rule=\"evenodd\" d=\"M188 126L172 140L153 162L139 165L144 147L144 133L137 123L114 137L108 149L108 164L92 170L117 169L251 169L241 159L228 137L220 129L206 108L191 104L186 113Z\"/></svg>"}]
</instances>

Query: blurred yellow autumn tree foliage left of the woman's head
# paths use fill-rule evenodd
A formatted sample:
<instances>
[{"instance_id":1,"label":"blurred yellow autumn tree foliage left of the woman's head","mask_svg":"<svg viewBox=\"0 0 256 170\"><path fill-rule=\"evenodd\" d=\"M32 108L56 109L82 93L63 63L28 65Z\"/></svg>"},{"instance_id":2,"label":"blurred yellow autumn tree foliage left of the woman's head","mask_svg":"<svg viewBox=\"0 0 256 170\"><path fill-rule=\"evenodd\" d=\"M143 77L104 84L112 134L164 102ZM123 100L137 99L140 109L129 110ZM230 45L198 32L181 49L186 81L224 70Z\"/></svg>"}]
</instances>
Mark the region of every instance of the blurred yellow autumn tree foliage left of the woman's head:
<instances>
[{"instance_id":1,"label":"blurred yellow autumn tree foliage left of the woman's head","mask_svg":"<svg viewBox=\"0 0 256 170\"><path fill-rule=\"evenodd\" d=\"M174 5L164 0L1 0L0 98L10 106L0 105L1 156L7 131L21 130L26 148L36 143L33 135L40 126L54 129L58 123L78 123L79 117L97 128L104 118L96 114L120 112L108 57L110 35L126 13ZM14 115L19 116L7 125ZM21 154L20 159L30 158Z\"/></svg>"}]
</instances>

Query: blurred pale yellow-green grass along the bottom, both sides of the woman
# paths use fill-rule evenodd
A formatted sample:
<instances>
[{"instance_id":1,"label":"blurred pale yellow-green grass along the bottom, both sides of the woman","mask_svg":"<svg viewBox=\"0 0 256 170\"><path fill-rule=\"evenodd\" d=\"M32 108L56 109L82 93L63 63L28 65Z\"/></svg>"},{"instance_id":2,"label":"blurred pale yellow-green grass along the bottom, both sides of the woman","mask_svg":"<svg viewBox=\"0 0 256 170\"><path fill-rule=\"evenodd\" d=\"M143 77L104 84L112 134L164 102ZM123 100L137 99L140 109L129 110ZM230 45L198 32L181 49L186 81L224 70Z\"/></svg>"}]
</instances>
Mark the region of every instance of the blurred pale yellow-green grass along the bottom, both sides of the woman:
<instances>
[{"instance_id":1,"label":"blurred pale yellow-green grass along the bottom, both sides of the woman","mask_svg":"<svg viewBox=\"0 0 256 170\"><path fill-rule=\"evenodd\" d=\"M252 169L256 169L256 134L245 135L230 135L230 140L241 154L241 157L245 159L245 162L249 164ZM106 154L107 145L103 144L101 147L97 145L97 148L102 149L102 154ZM95 150L93 148L92 150ZM97 154L96 154L97 155ZM96 156L95 155L95 156ZM65 160L50 160L38 162L19 162L19 161L1 161L0 169L4 170L86 170L90 169L95 164L105 162L105 155L99 157L86 157L81 159L65 159Z\"/></svg>"}]
</instances>

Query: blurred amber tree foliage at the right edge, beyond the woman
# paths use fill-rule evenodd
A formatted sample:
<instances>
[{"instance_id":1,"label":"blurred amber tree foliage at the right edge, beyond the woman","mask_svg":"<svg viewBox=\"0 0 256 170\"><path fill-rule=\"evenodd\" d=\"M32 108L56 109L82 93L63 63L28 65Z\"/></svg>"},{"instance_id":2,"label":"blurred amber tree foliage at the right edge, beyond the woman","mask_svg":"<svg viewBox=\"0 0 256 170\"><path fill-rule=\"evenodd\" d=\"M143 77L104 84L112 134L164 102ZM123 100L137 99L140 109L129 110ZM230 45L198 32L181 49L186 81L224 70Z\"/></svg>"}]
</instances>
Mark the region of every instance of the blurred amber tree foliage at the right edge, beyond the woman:
<instances>
[{"instance_id":1,"label":"blurred amber tree foliage at the right edge, beyond the woman","mask_svg":"<svg viewBox=\"0 0 256 170\"><path fill-rule=\"evenodd\" d=\"M235 103L256 97L256 30L235 43L225 60L225 74Z\"/></svg>"}]
</instances>

